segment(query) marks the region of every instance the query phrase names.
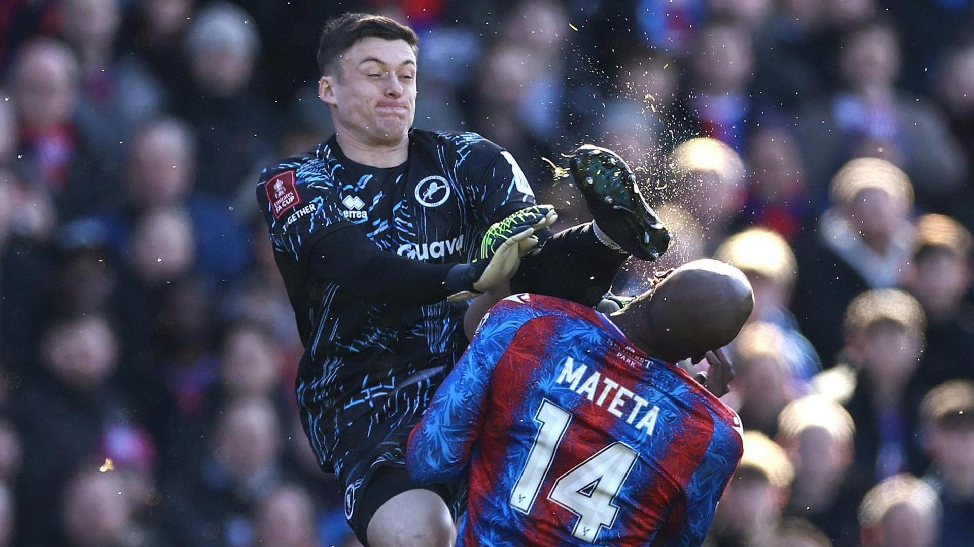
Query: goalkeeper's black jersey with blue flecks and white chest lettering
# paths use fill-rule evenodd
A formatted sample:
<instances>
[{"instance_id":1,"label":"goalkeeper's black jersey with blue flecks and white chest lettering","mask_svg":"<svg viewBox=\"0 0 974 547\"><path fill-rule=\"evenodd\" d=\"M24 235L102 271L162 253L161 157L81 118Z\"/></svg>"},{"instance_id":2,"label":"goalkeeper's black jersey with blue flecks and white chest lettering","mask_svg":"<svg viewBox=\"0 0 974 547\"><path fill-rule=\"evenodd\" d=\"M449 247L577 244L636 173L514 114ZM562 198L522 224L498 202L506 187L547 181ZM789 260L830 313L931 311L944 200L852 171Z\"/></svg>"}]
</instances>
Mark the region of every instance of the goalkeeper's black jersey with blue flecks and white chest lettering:
<instances>
[{"instance_id":1,"label":"goalkeeper's black jersey with blue flecks and white chest lettering","mask_svg":"<svg viewBox=\"0 0 974 547\"><path fill-rule=\"evenodd\" d=\"M343 431L355 424L355 437L370 436L419 419L466 346L467 306L364 302L312 274L315 242L356 229L400 256L468 262L494 213L534 194L510 154L480 135L411 129L406 164L356 164L332 136L265 169L257 200L305 346L296 384L305 427L322 468L340 473L357 450Z\"/></svg>"}]
</instances>

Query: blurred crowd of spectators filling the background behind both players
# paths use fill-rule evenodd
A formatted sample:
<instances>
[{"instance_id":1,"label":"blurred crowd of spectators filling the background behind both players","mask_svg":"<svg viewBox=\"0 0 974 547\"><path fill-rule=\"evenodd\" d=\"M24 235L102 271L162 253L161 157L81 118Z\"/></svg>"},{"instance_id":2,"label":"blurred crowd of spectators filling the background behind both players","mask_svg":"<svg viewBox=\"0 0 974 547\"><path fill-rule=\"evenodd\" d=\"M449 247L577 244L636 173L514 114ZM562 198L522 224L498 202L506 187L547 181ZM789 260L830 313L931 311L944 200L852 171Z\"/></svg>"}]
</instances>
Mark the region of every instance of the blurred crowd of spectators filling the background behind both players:
<instances>
[{"instance_id":1,"label":"blurred crowd of spectators filling the background behind both players","mask_svg":"<svg viewBox=\"0 0 974 547\"><path fill-rule=\"evenodd\" d=\"M356 545L253 189L330 134L318 29L420 34L416 127L617 149L756 294L712 546L974 537L974 1L0 2L0 546Z\"/></svg>"}]
</instances>

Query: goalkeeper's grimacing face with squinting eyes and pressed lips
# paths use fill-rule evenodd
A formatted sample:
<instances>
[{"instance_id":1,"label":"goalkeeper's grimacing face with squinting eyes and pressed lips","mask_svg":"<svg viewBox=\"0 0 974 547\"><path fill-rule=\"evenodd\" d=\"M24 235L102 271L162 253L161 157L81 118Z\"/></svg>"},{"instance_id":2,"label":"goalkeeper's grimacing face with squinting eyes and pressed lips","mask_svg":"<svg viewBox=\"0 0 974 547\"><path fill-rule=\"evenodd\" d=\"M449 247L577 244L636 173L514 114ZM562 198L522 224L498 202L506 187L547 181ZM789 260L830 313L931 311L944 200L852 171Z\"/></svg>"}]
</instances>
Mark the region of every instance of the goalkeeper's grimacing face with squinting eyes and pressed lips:
<instances>
[{"instance_id":1,"label":"goalkeeper's grimacing face with squinting eyes and pressed lips","mask_svg":"<svg viewBox=\"0 0 974 547\"><path fill-rule=\"evenodd\" d=\"M416 113L416 52L404 40L363 38L321 77L318 95L335 129L367 145L407 138Z\"/></svg>"}]
</instances>

